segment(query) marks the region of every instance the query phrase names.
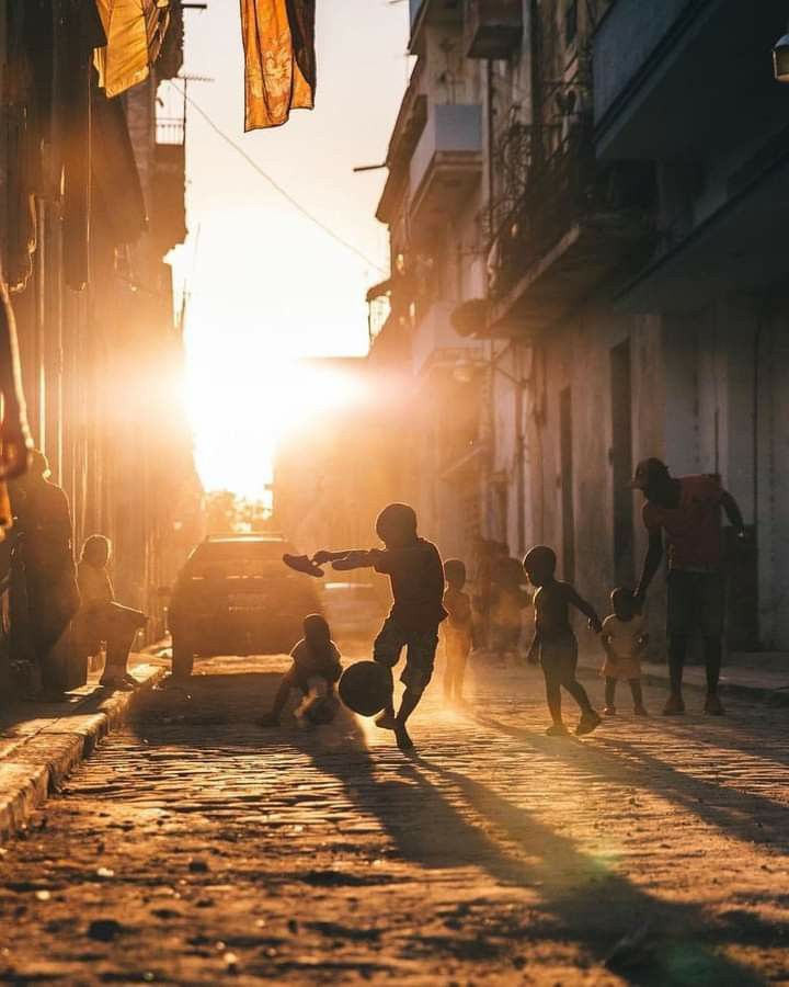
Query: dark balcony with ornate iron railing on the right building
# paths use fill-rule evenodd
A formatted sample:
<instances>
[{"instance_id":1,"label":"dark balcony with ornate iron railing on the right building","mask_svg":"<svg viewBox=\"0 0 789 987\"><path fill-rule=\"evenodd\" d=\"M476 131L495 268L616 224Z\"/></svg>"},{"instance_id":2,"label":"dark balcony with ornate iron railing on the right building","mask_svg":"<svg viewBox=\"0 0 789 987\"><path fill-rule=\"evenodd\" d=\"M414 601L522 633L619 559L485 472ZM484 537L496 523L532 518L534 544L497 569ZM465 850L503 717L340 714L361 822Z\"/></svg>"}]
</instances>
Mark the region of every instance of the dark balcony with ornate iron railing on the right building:
<instances>
[{"instance_id":1,"label":"dark balcony with ornate iron railing on the right building","mask_svg":"<svg viewBox=\"0 0 789 987\"><path fill-rule=\"evenodd\" d=\"M478 336L537 336L654 247L650 166L596 166L580 125L535 170L493 239L487 328Z\"/></svg>"}]
</instances>

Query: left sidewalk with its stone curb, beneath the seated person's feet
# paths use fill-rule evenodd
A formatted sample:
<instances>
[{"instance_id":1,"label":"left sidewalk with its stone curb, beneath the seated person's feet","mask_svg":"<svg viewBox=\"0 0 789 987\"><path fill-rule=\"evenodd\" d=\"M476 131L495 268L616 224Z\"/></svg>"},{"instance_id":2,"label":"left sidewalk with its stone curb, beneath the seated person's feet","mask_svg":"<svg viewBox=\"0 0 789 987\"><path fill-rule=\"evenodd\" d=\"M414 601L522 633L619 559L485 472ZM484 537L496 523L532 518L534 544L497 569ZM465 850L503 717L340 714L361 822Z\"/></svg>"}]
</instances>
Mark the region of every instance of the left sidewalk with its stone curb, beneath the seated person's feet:
<instances>
[{"instance_id":1,"label":"left sidewalk with its stone curb, beneath the seated person's feet","mask_svg":"<svg viewBox=\"0 0 789 987\"><path fill-rule=\"evenodd\" d=\"M129 660L144 688L159 681L168 666L149 654ZM139 694L107 693L99 674L91 673L88 684L62 703L19 702L0 710L0 841L24 826L30 813L90 757Z\"/></svg>"}]
</instances>

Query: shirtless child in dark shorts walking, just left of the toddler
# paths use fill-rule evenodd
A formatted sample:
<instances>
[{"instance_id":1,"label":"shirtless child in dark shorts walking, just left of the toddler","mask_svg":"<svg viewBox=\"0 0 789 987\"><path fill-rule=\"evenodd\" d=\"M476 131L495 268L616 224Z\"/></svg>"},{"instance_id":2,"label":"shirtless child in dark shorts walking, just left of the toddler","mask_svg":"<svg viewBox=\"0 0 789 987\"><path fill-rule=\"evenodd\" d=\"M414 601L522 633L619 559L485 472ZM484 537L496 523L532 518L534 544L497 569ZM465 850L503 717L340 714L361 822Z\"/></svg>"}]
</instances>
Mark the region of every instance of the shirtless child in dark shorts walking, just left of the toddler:
<instances>
[{"instance_id":1,"label":"shirtless child in dark shorts walking, just left of the toddler","mask_svg":"<svg viewBox=\"0 0 789 987\"><path fill-rule=\"evenodd\" d=\"M578 668L578 640L570 626L570 606L575 606L587 619L597 634L603 629L599 617L591 603L583 600L569 582L556 578L556 553L547 545L537 545L524 559L524 569L535 594L535 636L528 660L539 660L546 680L548 710L553 721L548 727L550 737L565 736L567 727L561 715L561 690L565 689L581 707L581 719L575 728L579 736L591 734L601 724L592 708L586 690L575 678Z\"/></svg>"}]
</instances>

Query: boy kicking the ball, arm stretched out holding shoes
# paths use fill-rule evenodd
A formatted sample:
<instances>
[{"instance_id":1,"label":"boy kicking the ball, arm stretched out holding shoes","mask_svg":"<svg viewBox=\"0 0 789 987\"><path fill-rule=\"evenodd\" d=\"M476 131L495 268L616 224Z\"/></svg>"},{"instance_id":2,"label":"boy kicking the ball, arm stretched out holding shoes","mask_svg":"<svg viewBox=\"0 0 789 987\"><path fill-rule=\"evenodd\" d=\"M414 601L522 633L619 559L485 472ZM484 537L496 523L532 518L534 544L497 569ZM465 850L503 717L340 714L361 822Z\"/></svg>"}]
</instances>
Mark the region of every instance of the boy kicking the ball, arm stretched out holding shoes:
<instances>
[{"instance_id":1,"label":"boy kicking the ball, arm stretched out holding shoes","mask_svg":"<svg viewBox=\"0 0 789 987\"><path fill-rule=\"evenodd\" d=\"M442 604L444 569L438 549L416 533L416 514L404 503L390 503L378 515L376 533L385 548L341 552L321 549L311 559L299 557L293 568L322 575L321 566L334 569L373 568L389 577L393 604L376 638L373 658L389 670L389 699L376 726L395 731L401 750L411 750L413 741L405 724L433 677L438 645L438 625L446 617ZM400 708L395 712L395 683L391 669L405 648L405 668L400 681L405 687Z\"/></svg>"}]
</instances>

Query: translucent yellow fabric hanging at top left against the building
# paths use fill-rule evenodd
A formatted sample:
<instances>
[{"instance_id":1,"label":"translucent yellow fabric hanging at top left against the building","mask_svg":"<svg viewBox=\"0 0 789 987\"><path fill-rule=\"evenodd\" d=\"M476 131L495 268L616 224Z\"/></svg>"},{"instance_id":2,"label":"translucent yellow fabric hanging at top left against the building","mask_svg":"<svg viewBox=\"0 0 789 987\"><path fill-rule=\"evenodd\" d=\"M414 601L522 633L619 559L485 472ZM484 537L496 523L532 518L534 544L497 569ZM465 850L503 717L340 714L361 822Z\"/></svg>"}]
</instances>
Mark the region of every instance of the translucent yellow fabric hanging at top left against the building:
<instances>
[{"instance_id":1,"label":"translucent yellow fabric hanging at top left against the building","mask_svg":"<svg viewBox=\"0 0 789 987\"><path fill-rule=\"evenodd\" d=\"M107 43L95 49L99 84L115 97L147 78L170 20L169 0L96 0Z\"/></svg>"}]
</instances>

